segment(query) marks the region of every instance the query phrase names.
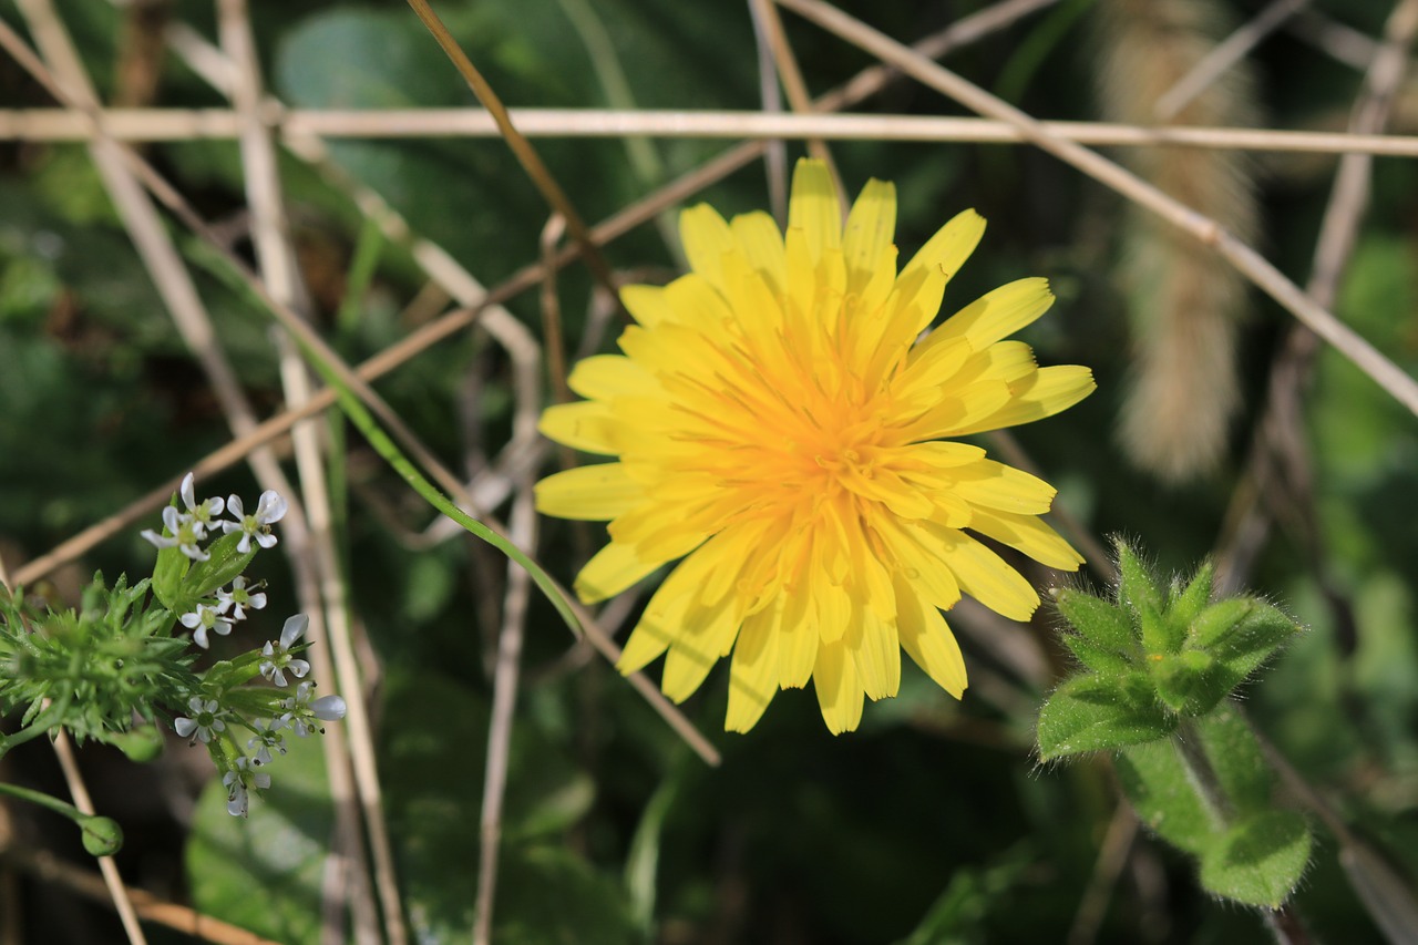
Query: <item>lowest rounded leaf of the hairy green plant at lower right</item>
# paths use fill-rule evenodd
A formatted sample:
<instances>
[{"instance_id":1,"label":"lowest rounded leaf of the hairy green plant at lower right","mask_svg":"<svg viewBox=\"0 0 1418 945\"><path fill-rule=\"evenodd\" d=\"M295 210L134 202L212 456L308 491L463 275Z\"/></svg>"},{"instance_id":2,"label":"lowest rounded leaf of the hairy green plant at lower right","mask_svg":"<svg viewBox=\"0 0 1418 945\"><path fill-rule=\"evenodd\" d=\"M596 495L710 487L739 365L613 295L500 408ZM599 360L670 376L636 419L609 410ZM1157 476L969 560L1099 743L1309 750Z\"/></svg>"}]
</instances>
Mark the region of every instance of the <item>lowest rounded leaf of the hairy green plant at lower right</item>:
<instances>
[{"instance_id":1,"label":"lowest rounded leaf of the hairy green plant at lower right","mask_svg":"<svg viewBox=\"0 0 1418 945\"><path fill-rule=\"evenodd\" d=\"M1310 860L1310 829L1293 810L1271 810L1239 823L1201 858L1201 885L1263 908L1279 908Z\"/></svg>"}]
</instances>

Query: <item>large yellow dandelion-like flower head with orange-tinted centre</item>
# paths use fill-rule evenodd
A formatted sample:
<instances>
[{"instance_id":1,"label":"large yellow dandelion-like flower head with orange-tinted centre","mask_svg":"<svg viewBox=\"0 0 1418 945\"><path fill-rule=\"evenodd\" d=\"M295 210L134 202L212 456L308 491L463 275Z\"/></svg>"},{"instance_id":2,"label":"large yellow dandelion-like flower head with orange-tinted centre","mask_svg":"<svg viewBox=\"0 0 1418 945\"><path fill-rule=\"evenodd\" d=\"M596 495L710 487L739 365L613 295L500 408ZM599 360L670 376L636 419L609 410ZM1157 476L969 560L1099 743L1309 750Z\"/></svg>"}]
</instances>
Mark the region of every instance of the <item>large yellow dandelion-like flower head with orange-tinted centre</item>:
<instances>
[{"instance_id":1,"label":"large yellow dandelion-like flower head with orange-tinted centre","mask_svg":"<svg viewBox=\"0 0 1418 945\"><path fill-rule=\"evenodd\" d=\"M1082 563L1038 518L1046 482L946 438L1093 390L1086 368L1039 368L1001 341L1048 309L1048 284L998 288L917 342L984 220L961 213L899 274L895 228L896 190L871 180L844 231L815 160L797 165L786 236L764 213L686 210L693 271L627 287L625 353L580 362L570 386L586 400L542 417L557 443L620 457L537 484L547 515L610 519L576 579L583 600L683 558L620 670L668 651L661 687L681 701L732 651L730 731L810 678L827 726L855 729L862 695L896 694L902 647L959 698L966 667L940 612L961 593L1014 620L1039 603L971 532L1051 568Z\"/></svg>"}]
</instances>

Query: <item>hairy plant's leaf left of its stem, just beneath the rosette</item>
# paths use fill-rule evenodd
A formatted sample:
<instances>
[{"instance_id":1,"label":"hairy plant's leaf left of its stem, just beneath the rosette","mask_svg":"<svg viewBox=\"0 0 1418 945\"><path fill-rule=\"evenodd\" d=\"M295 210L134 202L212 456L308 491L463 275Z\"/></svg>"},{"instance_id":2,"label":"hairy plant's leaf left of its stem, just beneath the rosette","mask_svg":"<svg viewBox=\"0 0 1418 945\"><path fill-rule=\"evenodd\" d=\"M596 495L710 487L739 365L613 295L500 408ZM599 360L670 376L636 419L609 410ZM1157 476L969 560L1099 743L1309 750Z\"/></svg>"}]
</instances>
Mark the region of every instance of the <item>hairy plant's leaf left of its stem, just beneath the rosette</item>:
<instances>
[{"instance_id":1,"label":"hairy plant's leaf left of its stem, just beneath the rosette","mask_svg":"<svg viewBox=\"0 0 1418 945\"><path fill-rule=\"evenodd\" d=\"M1211 849L1221 822L1197 793L1173 739L1123 748L1113 766L1137 819L1153 833L1194 856Z\"/></svg>"}]
</instances>

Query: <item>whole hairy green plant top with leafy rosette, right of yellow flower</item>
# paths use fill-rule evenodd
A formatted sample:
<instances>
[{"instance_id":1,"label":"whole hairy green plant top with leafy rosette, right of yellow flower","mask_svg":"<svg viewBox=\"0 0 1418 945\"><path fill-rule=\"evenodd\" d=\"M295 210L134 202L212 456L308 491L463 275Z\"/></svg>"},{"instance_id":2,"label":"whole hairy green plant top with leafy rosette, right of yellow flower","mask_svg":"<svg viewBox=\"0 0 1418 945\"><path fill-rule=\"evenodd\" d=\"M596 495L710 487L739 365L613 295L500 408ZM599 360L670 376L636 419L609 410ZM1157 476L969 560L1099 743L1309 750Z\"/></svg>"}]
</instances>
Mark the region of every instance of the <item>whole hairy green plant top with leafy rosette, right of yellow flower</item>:
<instances>
[{"instance_id":1,"label":"whole hairy green plant top with leafy rosette, right of yellow flower","mask_svg":"<svg viewBox=\"0 0 1418 945\"><path fill-rule=\"evenodd\" d=\"M1278 908L1310 831L1273 809L1275 773L1229 695L1299 627L1254 597L1210 602L1210 565L1164 590L1123 542L1117 563L1116 603L1056 595L1083 671L1039 711L1039 758L1112 751L1137 816L1197 858L1208 891Z\"/></svg>"}]
</instances>

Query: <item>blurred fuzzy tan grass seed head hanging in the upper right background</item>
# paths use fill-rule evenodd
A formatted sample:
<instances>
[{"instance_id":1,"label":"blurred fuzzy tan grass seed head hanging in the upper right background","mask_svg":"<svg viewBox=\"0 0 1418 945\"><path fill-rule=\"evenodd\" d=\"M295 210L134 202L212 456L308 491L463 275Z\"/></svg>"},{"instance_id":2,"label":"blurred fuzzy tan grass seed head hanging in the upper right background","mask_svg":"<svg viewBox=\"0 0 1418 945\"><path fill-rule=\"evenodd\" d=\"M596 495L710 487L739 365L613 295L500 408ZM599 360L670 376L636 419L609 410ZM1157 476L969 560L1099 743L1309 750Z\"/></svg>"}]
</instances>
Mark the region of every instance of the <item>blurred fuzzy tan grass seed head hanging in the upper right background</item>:
<instances>
[{"instance_id":1,"label":"blurred fuzzy tan grass seed head hanging in the upper right background","mask_svg":"<svg viewBox=\"0 0 1418 945\"><path fill-rule=\"evenodd\" d=\"M1215 0L1107 0L1099 4L1107 119L1147 123L1224 35ZM1256 121L1244 61L1212 77L1176 118L1181 125ZM1127 155L1139 176L1251 243L1259 214L1248 162L1229 152L1156 148ZM1214 470L1241 400L1236 329L1245 280L1140 207L1129 207L1122 280L1134 363L1119 434L1132 460L1171 482Z\"/></svg>"}]
</instances>

